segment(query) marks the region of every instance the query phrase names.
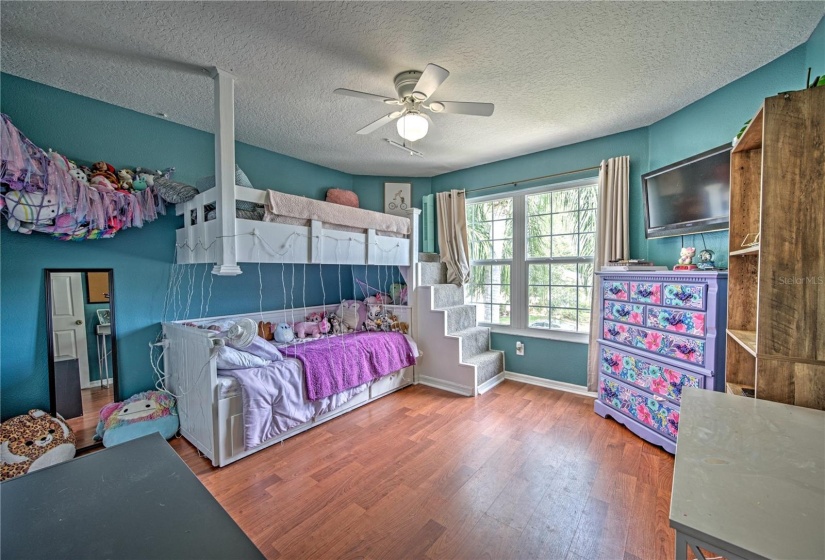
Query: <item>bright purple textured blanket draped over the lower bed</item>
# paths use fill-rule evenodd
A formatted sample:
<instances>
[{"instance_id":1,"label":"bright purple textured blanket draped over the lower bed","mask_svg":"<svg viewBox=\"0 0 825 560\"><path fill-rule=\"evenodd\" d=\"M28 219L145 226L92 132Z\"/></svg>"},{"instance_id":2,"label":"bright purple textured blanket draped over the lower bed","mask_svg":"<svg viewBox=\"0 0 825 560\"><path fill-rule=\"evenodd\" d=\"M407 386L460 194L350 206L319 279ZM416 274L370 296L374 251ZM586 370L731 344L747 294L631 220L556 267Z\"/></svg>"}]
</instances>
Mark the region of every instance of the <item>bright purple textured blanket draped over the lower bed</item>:
<instances>
[{"instance_id":1,"label":"bright purple textured blanket draped over the lower bed","mask_svg":"<svg viewBox=\"0 0 825 560\"><path fill-rule=\"evenodd\" d=\"M360 332L281 348L304 365L307 397L316 401L415 365L401 333Z\"/></svg>"}]
</instances>

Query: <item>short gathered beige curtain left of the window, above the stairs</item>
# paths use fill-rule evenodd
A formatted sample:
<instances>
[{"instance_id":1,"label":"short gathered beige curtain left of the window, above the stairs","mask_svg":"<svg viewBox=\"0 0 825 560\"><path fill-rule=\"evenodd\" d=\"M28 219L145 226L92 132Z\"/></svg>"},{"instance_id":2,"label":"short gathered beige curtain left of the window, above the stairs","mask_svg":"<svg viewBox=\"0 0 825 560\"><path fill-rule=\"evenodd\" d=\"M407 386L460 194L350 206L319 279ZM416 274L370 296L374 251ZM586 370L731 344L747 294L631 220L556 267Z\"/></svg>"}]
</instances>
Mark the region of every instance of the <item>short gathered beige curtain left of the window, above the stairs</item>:
<instances>
[{"instance_id":1,"label":"short gathered beige curtain left of the window, above the stairs","mask_svg":"<svg viewBox=\"0 0 825 560\"><path fill-rule=\"evenodd\" d=\"M464 191L436 194L438 247L447 265L447 281L463 286L470 281L470 248L467 244L467 212Z\"/></svg>"}]
</instances>

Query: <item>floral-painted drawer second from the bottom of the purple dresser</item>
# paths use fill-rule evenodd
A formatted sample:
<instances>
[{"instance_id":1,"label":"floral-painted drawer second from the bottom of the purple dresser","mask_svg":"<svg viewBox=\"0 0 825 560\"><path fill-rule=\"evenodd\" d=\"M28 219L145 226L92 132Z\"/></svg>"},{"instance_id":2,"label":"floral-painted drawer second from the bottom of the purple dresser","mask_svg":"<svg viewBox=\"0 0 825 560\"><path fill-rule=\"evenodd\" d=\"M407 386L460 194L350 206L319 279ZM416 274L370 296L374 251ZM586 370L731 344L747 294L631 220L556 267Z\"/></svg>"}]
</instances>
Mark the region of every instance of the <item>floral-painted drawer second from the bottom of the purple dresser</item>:
<instances>
[{"instance_id":1,"label":"floral-painted drawer second from the bottom of the purple dresser","mask_svg":"<svg viewBox=\"0 0 825 560\"><path fill-rule=\"evenodd\" d=\"M682 399L684 387L702 389L705 385L703 375L677 371L615 348L602 346L600 358L602 373L646 389L655 395L661 395L677 404Z\"/></svg>"}]
</instances>

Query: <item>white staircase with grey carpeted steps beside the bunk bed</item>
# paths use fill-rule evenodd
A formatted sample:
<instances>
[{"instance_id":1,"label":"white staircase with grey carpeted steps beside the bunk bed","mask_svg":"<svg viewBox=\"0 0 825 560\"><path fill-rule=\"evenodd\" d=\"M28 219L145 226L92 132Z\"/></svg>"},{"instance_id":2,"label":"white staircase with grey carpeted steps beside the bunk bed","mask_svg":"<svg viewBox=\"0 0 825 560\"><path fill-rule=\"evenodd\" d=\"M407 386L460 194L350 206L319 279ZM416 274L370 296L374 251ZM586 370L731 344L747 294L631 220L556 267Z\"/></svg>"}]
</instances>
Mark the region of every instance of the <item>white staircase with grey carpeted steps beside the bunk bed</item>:
<instances>
[{"instance_id":1,"label":"white staircase with grey carpeted steps beside the bunk bed","mask_svg":"<svg viewBox=\"0 0 825 560\"><path fill-rule=\"evenodd\" d=\"M418 382L467 396L500 383L504 353L490 350L490 329L477 326L476 308L464 304L463 289L447 283L437 255L423 253L417 266Z\"/></svg>"}]
</instances>

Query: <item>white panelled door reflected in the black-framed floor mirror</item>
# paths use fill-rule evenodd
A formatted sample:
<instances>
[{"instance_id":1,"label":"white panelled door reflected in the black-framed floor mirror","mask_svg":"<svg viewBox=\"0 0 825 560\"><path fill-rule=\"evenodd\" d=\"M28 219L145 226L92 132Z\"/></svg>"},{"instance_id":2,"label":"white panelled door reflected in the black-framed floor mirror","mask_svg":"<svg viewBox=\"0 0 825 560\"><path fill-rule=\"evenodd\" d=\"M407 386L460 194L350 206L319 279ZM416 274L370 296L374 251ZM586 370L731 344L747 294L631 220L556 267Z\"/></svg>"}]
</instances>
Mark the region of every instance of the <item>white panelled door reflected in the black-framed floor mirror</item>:
<instances>
[{"instance_id":1,"label":"white panelled door reflected in the black-framed floor mirror","mask_svg":"<svg viewBox=\"0 0 825 560\"><path fill-rule=\"evenodd\" d=\"M80 272L53 272L52 348L54 361L77 360L80 388L89 387L86 314Z\"/></svg>"}]
</instances>

